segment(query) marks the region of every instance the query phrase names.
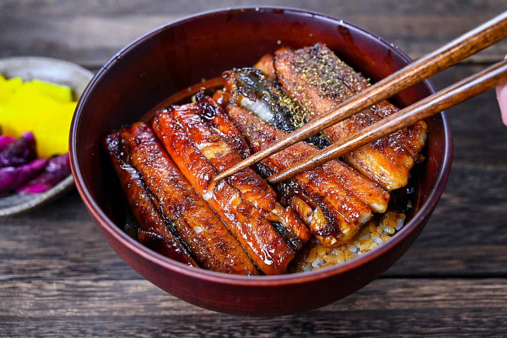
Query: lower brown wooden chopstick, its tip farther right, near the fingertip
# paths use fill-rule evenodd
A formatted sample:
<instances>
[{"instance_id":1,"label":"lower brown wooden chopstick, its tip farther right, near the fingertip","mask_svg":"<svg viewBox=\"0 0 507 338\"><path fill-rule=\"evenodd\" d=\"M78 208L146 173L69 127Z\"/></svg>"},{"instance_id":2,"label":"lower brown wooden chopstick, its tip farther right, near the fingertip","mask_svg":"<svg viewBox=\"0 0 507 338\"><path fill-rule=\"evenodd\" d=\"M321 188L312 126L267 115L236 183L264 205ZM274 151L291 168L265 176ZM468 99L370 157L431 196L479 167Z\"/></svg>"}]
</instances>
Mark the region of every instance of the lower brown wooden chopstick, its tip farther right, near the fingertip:
<instances>
[{"instance_id":1,"label":"lower brown wooden chopstick, its tip farther right, near the fingertip","mask_svg":"<svg viewBox=\"0 0 507 338\"><path fill-rule=\"evenodd\" d=\"M281 182L302 171L336 159L351 152L353 149L374 142L397 130L406 128L431 115L437 114L444 109L493 89L506 79L507 60L503 60L361 129L358 133L321 149L313 156L271 175L268 177L268 181L271 183Z\"/></svg>"}]
</instances>

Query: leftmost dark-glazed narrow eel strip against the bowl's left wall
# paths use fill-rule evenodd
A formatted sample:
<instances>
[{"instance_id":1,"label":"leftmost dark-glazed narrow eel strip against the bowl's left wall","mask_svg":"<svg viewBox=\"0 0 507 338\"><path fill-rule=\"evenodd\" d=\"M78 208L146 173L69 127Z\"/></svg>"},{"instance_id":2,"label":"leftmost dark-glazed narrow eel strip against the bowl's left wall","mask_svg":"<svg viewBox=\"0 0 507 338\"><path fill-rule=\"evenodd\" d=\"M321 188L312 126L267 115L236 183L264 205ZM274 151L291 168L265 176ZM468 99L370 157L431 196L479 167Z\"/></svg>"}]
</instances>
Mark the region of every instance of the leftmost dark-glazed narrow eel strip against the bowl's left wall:
<instances>
[{"instance_id":1,"label":"leftmost dark-glazed narrow eel strip against the bowl's left wall","mask_svg":"<svg viewBox=\"0 0 507 338\"><path fill-rule=\"evenodd\" d=\"M167 220L153 202L153 196L139 177L138 172L125 161L120 148L120 135L113 132L103 140L104 149L120 179L123 192L134 214L137 238L141 244L174 260L197 267L191 254L169 230Z\"/></svg>"}]
</instances>

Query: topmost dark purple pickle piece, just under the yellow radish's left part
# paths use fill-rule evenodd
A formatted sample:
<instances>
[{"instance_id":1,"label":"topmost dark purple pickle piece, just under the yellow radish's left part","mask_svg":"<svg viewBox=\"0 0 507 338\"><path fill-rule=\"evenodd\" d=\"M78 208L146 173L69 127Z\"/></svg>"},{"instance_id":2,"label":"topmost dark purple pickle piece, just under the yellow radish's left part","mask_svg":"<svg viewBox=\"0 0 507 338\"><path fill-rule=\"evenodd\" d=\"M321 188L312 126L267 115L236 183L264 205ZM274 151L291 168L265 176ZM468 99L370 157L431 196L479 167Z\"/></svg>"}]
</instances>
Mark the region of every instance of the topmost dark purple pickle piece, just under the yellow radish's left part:
<instances>
[{"instance_id":1,"label":"topmost dark purple pickle piece, just under the yellow radish's left part","mask_svg":"<svg viewBox=\"0 0 507 338\"><path fill-rule=\"evenodd\" d=\"M32 133L26 132L0 152L0 168L17 167L35 158L35 138Z\"/></svg>"}]
</instances>

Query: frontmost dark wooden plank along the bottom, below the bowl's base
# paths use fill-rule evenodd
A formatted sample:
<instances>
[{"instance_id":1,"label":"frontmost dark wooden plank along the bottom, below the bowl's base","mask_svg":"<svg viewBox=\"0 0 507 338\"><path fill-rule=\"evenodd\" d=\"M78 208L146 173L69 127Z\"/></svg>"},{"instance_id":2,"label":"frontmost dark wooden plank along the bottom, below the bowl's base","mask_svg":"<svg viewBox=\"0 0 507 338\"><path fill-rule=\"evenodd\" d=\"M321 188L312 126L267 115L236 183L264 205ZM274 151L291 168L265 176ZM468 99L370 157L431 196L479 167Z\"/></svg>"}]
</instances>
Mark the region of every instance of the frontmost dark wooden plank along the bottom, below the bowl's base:
<instances>
[{"instance_id":1,"label":"frontmost dark wooden plank along the bottom, below the bowl's base","mask_svg":"<svg viewBox=\"0 0 507 338\"><path fill-rule=\"evenodd\" d=\"M502 336L505 299L504 279L382 279L309 313L247 318L197 308L146 281L12 282L0 284L0 335Z\"/></svg>"}]
</instances>

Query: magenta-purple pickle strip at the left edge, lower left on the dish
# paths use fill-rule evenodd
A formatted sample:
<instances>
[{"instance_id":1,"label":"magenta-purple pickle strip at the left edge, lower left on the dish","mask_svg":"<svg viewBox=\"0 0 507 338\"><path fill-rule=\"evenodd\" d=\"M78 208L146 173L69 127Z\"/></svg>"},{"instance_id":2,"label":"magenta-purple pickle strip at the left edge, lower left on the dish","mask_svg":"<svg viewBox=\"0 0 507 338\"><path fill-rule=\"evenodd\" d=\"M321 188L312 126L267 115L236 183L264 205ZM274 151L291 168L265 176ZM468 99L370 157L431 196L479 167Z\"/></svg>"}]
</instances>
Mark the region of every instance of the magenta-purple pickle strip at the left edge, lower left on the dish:
<instances>
[{"instance_id":1,"label":"magenta-purple pickle strip at the left edge, lower left on the dish","mask_svg":"<svg viewBox=\"0 0 507 338\"><path fill-rule=\"evenodd\" d=\"M19 167L0 168L0 195L18 189L36 176L48 163L46 159L35 159Z\"/></svg>"}]
</instances>

